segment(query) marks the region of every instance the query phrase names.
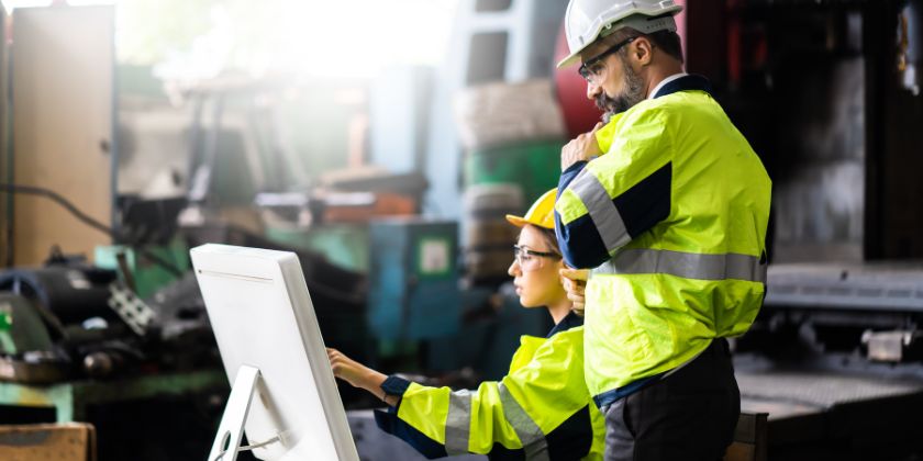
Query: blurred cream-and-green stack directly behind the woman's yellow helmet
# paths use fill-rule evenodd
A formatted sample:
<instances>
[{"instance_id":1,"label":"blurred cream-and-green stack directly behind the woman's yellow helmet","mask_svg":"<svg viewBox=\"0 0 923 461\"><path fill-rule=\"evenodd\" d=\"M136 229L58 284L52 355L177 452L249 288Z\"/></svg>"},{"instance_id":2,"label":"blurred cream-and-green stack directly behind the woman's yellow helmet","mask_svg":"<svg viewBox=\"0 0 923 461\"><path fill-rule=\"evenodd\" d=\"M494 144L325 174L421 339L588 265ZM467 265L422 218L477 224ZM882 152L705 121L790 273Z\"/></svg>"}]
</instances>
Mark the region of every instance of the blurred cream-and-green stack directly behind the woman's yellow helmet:
<instances>
[{"instance_id":1,"label":"blurred cream-and-green stack directly behind the woman's yellow helmet","mask_svg":"<svg viewBox=\"0 0 923 461\"><path fill-rule=\"evenodd\" d=\"M477 284L509 280L522 215L560 175L561 111L545 79L471 87L455 99L464 155L465 269Z\"/></svg>"}]
</instances>

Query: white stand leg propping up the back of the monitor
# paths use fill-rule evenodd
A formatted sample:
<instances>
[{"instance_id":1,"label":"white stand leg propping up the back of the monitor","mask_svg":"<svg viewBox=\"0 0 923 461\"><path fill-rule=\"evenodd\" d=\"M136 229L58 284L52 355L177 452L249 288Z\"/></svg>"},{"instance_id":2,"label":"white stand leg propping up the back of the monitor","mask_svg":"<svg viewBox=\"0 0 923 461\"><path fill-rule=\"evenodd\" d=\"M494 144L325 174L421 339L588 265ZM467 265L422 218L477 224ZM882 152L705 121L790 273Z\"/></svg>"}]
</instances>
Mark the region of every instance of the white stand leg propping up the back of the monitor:
<instances>
[{"instance_id":1,"label":"white stand leg propping up the back of the monitor","mask_svg":"<svg viewBox=\"0 0 923 461\"><path fill-rule=\"evenodd\" d=\"M237 369L237 378L234 379L234 385L231 387L231 396L227 397L227 405L221 416L221 424L218 426L218 434L214 437L208 461L235 461L237 453L241 451L264 447L280 440L276 436L258 445L241 447L244 424L247 421L249 403L257 380L259 380L259 369L249 366L241 366Z\"/></svg>"}]
</instances>

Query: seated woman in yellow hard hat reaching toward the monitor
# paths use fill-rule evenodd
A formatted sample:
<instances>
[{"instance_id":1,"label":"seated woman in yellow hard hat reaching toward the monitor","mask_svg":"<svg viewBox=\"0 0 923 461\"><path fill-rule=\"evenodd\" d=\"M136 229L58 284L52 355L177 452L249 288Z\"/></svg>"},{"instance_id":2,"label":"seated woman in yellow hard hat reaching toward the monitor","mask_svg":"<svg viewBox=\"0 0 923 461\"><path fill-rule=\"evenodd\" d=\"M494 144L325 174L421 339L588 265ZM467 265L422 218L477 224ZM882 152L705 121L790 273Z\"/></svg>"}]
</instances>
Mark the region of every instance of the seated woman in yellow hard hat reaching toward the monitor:
<instances>
[{"instance_id":1,"label":"seated woman in yellow hard hat reaching toward the monitor","mask_svg":"<svg viewBox=\"0 0 923 461\"><path fill-rule=\"evenodd\" d=\"M565 269L554 232L555 190L523 217L509 273L526 308L546 307L555 326L548 336L523 336L510 372L477 391L426 387L386 376L334 349L334 374L382 398L383 430L427 458L482 453L491 460L601 460L604 425L583 381L583 321L571 312L558 272Z\"/></svg>"}]
</instances>

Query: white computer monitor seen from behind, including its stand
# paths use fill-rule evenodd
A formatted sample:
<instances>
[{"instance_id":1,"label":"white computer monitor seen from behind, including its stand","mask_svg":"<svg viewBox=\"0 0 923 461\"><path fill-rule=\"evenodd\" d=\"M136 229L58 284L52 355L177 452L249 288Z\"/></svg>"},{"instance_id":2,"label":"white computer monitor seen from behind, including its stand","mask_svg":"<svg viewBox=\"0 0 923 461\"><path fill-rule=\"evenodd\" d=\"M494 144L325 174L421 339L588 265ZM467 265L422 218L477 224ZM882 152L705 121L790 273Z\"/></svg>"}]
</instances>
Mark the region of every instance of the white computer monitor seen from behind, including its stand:
<instances>
[{"instance_id":1,"label":"white computer monitor seen from behind, including its stand","mask_svg":"<svg viewBox=\"0 0 923 461\"><path fill-rule=\"evenodd\" d=\"M233 385L208 461L236 458L242 426L263 460L358 461L296 255L209 244L191 257Z\"/></svg>"}]
</instances>

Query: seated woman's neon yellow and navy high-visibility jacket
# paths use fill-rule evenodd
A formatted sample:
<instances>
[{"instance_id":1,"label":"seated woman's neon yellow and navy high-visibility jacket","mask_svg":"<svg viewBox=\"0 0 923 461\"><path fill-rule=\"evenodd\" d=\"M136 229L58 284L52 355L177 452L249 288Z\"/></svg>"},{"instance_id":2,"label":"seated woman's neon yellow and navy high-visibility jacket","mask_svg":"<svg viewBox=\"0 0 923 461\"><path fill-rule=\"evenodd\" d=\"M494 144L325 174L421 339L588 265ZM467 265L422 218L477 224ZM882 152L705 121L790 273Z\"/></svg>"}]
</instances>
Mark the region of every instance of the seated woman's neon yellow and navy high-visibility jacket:
<instances>
[{"instance_id":1,"label":"seated woman's neon yellow and navy high-visibility jacket","mask_svg":"<svg viewBox=\"0 0 923 461\"><path fill-rule=\"evenodd\" d=\"M582 319L568 315L547 338L523 336L499 382L476 391L427 387L389 376L397 408L376 421L427 458L601 460L605 427L583 381Z\"/></svg>"}]
</instances>

